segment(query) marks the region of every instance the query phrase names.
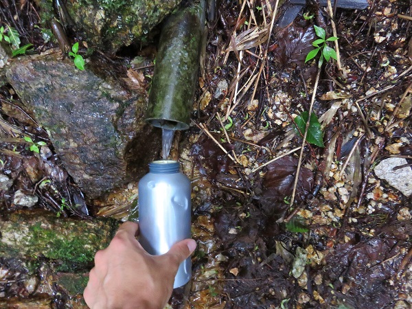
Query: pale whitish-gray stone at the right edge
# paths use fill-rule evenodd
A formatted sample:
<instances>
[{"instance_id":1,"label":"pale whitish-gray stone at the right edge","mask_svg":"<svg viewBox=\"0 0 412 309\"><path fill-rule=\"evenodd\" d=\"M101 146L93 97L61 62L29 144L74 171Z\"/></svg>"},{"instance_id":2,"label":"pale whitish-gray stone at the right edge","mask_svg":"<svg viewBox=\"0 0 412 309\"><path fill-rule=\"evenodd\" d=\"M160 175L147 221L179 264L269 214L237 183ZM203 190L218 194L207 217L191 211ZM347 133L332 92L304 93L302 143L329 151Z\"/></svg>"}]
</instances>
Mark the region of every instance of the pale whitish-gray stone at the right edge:
<instances>
[{"instance_id":1,"label":"pale whitish-gray stone at the right edge","mask_svg":"<svg viewBox=\"0 0 412 309\"><path fill-rule=\"evenodd\" d=\"M388 158L382 160L376 165L374 171L376 176L380 179L384 179L391 185L402 192L405 196L412 195L412 169L410 166L393 170L400 165L407 164L407 160L404 158Z\"/></svg>"}]
</instances>

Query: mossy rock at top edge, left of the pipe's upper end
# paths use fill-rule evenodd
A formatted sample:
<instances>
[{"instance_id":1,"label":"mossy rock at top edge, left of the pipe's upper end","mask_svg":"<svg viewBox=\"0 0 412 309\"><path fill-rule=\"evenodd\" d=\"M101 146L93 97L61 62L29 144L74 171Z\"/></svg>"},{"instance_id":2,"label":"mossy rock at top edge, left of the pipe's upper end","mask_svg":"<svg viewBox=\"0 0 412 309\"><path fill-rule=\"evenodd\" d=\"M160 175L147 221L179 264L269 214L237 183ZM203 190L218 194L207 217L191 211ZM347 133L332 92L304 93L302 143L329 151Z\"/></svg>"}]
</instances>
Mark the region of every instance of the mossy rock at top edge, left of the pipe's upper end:
<instances>
[{"instance_id":1,"label":"mossy rock at top edge, left of the pipe's upper end","mask_svg":"<svg viewBox=\"0 0 412 309\"><path fill-rule=\"evenodd\" d=\"M107 52L128 46L160 23L181 0L74 0L65 5L64 24L83 30L89 43ZM54 19L52 0L38 0L46 23ZM54 2L54 1L53 1Z\"/></svg>"}]
</instances>

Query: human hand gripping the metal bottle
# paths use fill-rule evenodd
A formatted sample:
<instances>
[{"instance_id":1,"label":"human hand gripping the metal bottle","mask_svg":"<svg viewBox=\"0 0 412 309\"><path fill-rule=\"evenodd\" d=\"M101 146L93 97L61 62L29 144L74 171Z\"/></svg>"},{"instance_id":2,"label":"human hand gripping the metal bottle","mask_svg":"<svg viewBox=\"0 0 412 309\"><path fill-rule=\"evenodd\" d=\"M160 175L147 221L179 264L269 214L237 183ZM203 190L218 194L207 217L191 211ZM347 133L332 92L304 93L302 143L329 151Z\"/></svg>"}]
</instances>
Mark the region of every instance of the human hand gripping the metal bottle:
<instances>
[{"instance_id":1,"label":"human hand gripping the metal bottle","mask_svg":"<svg viewBox=\"0 0 412 309\"><path fill-rule=\"evenodd\" d=\"M95 255L95 266L84 289L92 309L161 309L172 295L179 264L196 249L182 240L163 255L150 255L136 240L139 225L124 222L109 246Z\"/></svg>"}]
</instances>

